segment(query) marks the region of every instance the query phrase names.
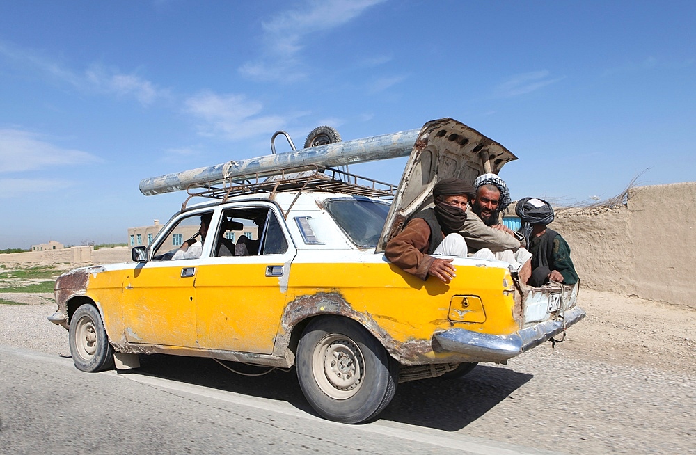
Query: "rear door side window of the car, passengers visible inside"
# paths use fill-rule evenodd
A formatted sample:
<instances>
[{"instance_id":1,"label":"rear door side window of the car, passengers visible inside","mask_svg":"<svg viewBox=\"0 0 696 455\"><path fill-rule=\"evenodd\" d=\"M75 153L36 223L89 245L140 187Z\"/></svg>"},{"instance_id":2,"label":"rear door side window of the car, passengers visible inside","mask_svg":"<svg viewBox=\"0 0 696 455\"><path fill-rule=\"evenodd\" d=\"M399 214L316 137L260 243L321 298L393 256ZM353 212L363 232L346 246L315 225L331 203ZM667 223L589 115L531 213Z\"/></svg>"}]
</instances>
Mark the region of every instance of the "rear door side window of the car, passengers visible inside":
<instances>
[{"instance_id":1,"label":"rear door side window of the car, passengers visible inside","mask_svg":"<svg viewBox=\"0 0 696 455\"><path fill-rule=\"evenodd\" d=\"M238 207L223 210L213 255L282 254L287 245L278 218L268 207Z\"/></svg>"}]
</instances>

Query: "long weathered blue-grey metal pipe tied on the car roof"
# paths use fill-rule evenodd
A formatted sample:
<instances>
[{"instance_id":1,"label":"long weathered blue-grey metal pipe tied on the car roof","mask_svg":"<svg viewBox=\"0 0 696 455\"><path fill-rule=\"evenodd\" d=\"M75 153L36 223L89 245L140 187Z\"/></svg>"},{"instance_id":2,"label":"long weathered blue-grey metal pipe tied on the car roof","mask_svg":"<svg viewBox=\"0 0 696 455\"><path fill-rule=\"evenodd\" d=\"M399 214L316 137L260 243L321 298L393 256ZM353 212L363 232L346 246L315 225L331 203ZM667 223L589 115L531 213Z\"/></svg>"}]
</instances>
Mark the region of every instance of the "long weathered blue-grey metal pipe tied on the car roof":
<instances>
[{"instance_id":1,"label":"long weathered blue-grey metal pipe tied on the car roof","mask_svg":"<svg viewBox=\"0 0 696 455\"><path fill-rule=\"evenodd\" d=\"M280 170L302 170L303 166L324 168L366 163L380 159L406 157L411 154L420 129L409 129L370 138L319 145L293 152L271 154L264 157L228 161L226 163L184 170L180 173L150 177L140 181L144 195L170 193L187 189L191 185L214 184L225 179L243 179L259 175L278 174Z\"/></svg>"}]
</instances>

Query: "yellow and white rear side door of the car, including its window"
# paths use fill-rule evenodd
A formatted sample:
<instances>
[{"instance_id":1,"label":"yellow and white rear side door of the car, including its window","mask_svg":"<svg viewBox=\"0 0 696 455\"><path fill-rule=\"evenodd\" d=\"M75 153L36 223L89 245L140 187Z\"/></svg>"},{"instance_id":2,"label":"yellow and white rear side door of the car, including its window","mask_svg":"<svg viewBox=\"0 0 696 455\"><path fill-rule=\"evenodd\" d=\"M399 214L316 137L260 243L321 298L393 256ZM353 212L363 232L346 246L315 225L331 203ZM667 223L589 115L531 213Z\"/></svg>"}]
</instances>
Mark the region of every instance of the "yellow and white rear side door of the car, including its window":
<instances>
[{"instance_id":1,"label":"yellow and white rear side door of the car, including its window","mask_svg":"<svg viewBox=\"0 0 696 455\"><path fill-rule=\"evenodd\" d=\"M273 205L225 209L221 223L226 220L244 227L220 225L216 241L234 239L235 255L214 253L196 272L198 346L269 354L285 308L295 249Z\"/></svg>"}]
</instances>

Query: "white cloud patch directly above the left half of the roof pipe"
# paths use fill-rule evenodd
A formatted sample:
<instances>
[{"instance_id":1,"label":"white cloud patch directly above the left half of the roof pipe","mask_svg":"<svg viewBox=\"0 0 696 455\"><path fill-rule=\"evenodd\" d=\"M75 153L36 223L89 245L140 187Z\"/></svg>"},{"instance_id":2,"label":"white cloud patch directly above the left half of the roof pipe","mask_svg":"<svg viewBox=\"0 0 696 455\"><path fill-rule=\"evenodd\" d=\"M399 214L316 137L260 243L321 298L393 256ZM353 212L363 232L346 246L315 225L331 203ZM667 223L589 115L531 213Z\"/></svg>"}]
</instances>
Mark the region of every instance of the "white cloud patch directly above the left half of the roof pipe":
<instances>
[{"instance_id":1,"label":"white cloud patch directly above the left half of the roof pipe","mask_svg":"<svg viewBox=\"0 0 696 455\"><path fill-rule=\"evenodd\" d=\"M203 92L187 99L184 106L199 120L198 132L202 136L219 136L232 141L271 134L287 122L280 115L259 115L262 104L244 95Z\"/></svg>"}]
</instances>

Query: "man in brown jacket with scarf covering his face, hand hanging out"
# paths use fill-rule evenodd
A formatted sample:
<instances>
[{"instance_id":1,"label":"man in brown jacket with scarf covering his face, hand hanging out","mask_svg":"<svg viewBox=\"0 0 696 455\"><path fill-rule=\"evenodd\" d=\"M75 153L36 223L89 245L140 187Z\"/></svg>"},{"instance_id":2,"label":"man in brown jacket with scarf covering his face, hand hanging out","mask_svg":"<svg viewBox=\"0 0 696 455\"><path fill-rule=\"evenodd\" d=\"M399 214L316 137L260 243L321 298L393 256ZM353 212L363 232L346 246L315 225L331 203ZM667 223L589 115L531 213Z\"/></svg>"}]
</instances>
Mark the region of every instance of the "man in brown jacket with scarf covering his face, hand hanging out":
<instances>
[{"instance_id":1,"label":"man in brown jacket with scarf covering his face, hand hanging out","mask_svg":"<svg viewBox=\"0 0 696 455\"><path fill-rule=\"evenodd\" d=\"M459 231L475 191L462 179L444 179L435 184L433 196L435 207L412 216L404 230L388 241L384 254L422 280L432 275L448 283L454 278L452 259L436 255L466 256L466 241Z\"/></svg>"}]
</instances>

